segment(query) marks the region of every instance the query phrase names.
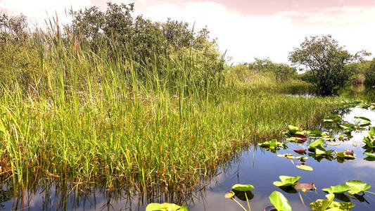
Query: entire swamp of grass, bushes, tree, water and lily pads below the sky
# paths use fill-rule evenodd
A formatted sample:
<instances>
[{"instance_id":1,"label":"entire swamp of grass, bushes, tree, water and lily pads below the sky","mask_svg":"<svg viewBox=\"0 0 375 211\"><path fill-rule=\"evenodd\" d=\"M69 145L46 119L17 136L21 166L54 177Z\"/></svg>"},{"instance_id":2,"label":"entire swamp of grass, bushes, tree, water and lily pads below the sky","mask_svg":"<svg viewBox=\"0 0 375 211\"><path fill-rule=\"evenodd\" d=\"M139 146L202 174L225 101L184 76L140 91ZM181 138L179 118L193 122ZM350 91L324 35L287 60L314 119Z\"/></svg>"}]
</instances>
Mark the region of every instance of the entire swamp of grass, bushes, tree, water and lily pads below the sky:
<instances>
[{"instance_id":1,"label":"entire swamp of grass, bushes, tree, water and lily pads below the sky","mask_svg":"<svg viewBox=\"0 0 375 211\"><path fill-rule=\"evenodd\" d=\"M133 12L1 15L0 210L375 210L370 53L313 36L234 65Z\"/></svg>"}]
</instances>

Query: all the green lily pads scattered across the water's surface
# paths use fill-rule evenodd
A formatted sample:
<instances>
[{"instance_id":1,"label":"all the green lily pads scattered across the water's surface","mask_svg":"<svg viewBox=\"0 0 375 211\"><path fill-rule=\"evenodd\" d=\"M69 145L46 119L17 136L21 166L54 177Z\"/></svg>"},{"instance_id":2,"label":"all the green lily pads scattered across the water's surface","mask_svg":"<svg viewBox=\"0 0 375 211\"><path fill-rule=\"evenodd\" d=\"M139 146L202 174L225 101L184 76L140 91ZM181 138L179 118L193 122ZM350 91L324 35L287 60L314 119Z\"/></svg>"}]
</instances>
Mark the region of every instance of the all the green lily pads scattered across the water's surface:
<instances>
[{"instance_id":1,"label":"all the green lily pads scattered across the water's surface","mask_svg":"<svg viewBox=\"0 0 375 211\"><path fill-rule=\"evenodd\" d=\"M375 103L364 103L362 101L354 101L345 103L345 107L357 107L357 108L369 108L375 110ZM263 143L258 143L258 146L264 148L266 151L271 151L272 153L277 153L281 149L288 148L287 143L293 142L298 143L303 147L302 143L305 143L308 139L313 141L310 143L307 148L294 148L293 151L298 153L300 156L294 156L291 153L278 154L277 156L288 158L291 160L293 165L295 162L293 160L299 160L300 165L295 165L300 170L312 171L312 167L307 166L306 160L308 155L318 162L322 159L327 160L337 160L338 162L345 162L345 160L355 159L355 153L352 150L344 150L343 152L337 152L334 150L327 150L324 145L335 146L340 144L338 141L349 141L352 138L351 133L357 130L366 129L367 126L371 124L371 120L367 117L355 117L357 120L356 124L350 124L343 122L341 115L329 115L324 118L323 122L337 124L341 128L341 134L333 137L329 132L323 131L306 131L301 130L298 127L293 125L288 126L288 131L283 132L286 136L284 142L279 142L277 139L272 139L270 141L265 141ZM363 139L364 142L364 155L367 155L365 160L373 161L375 160L375 127L369 127L369 134ZM308 153L307 153L308 151ZM316 191L317 188L314 186L314 183L299 183L298 180L300 176L289 177L289 176L279 176L280 181L274 181L274 185L281 188L281 190L286 191L287 193L298 193L300 199L303 202L303 198L299 191L305 193L306 191ZM350 202L338 203L334 201L334 198L354 198L356 200L365 201L363 195L360 193L372 193L367 191L371 186L364 183L363 181L350 180L346 181L345 184L339 184L337 186L330 186L329 188L324 188L322 191L328 193L326 199L318 199L310 203L310 207L315 211L349 211L355 205ZM236 198L247 202L248 210L250 211L250 200L254 197L254 194L251 190L254 189L254 186L251 184L235 184L232 186L231 191L225 194L225 198L230 198L234 200L243 210L247 211L241 203L239 203ZM375 193L372 193L375 194ZM269 201L272 203L272 206L265 207L264 211L289 211L291 210L291 204L288 199L279 191L274 191L269 195ZM345 200L343 200L345 201ZM304 203L305 204L305 203ZM187 211L187 207L184 205L175 205L173 203L151 203L146 207L146 211Z\"/></svg>"}]
</instances>

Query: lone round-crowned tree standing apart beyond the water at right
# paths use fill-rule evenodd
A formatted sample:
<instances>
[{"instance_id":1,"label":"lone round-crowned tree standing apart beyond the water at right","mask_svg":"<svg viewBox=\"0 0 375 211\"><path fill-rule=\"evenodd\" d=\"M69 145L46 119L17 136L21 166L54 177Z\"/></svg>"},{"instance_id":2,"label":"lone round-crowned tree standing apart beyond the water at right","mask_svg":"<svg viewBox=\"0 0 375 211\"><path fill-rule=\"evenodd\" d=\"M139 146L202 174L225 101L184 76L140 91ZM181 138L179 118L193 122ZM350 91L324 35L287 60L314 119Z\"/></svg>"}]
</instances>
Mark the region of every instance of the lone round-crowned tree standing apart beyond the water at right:
<instances>
[{"instance_id":1,"label":"lone round-crowned tree standing apart beyond the water at right","mask_svg":"<svg viewBox=\"0 0 375 211\"><path fill-rule=\"evenodd\" d=\"M289 53L289 60L295 65L303 65L310 71L312 84L317 88L317 94L329 96L343 87L350 79L350 72L345 65L362 60L369 53L360 51L350 54L331 35L305 38L300 48L294 48Z\"/></svg>"}]
</instances>

